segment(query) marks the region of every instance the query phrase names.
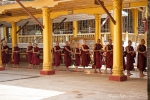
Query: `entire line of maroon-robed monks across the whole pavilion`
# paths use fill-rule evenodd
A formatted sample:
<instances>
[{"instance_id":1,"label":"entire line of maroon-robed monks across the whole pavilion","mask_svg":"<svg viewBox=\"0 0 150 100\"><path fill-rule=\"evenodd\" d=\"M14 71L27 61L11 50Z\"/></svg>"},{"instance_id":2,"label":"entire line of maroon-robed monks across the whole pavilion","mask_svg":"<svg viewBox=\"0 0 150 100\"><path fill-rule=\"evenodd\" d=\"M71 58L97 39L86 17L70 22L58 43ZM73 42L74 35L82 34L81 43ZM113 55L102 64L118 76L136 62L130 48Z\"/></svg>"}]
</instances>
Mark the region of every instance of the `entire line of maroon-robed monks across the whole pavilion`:
<instances>
[{"instance_id":1,"label":"entire line of maroon-robed monks across the whole pavilion","mask_svg":"<svg viewBox=\"0 0 150 100\"><path fill-rule=\"evenodd\" d=\"M103 50L103 46L100 42L101 40L98 39L97 43L94 45L93 48L93 58L94 58L94 72L97 73L97 69L99 69L99 73L101 72L101 67L103 64L103 54L106 52L106 69L104 70L104 73L107 73L107 69L110 68L110 74L112 74L113 69L113 45L112 40L108 40L108 45L105 46L105 50ZM72 55L75 58L75 71L78 71L78 66L83 66L83 71L85 71L85 67L88 67L91 62L91 52L90 48L86 44L86 40L83 41L83 45L79 46L79 43L76 44L76 47L74 50L71 49L69 46L69 43L66 41L65 46L63 50L59 46L59 42L56 42L56 46L53 48L53 54L54 54L54 66L56 70L59 70L59 66L62 60L61 54L64 54L64 64L66 66L66 70L68 71L68 67L72 65ZM122 45L124 42L122 42ZM20 48L17 44L15 44L13 49L13 60L14 65L13 67L19 67L20 62ZM132 75L131 71L134 69L134 63L135 63L135 57L136 57L136 51L138 53L137 55L137 68L139 69L139 75L140 77L145 76L143 72L146 70L146 46L145 46L145 40L142 39L141 43L138 45L137 50L135 51L132 46L132 41L128 41L128 46L125 48L122 46L123 50L123 70L127 70L127 76ZM40 65L40 48L37 46L36 43L34 43L34 46L32 46L32 43L29 43L26 52L28 53L28 68L33 68L34 65L37 65L39 68ZM126 62L125 62L126 57ZM9 62L9 47L7 46L7 42L3 42L2 46L2 63L5 67L8 67Z\"/></svg>"}]
</instances>

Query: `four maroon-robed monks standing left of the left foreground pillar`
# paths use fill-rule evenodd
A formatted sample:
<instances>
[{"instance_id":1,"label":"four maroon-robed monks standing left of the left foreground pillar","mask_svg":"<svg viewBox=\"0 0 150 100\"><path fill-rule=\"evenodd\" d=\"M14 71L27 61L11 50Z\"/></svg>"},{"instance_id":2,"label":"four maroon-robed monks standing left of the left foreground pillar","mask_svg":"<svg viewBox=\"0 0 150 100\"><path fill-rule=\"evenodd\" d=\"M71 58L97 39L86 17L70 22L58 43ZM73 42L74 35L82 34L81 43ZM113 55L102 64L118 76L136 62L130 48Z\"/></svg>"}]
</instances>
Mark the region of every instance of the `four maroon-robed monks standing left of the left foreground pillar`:
<instances>
[{"instance_id":1,"label":"four maroon-robed monks standing left of the left foreground pillar","mask_svg":"<svg viewBox=\"0 0 150 100\"><path fill-rule=\"evenodd\" d=\"M32 69L34 65L37 65L39 68L40 65L40 49L37 46L36 43L34 43L34 47L32 46L32 43L29 43L29 46L26 49L26 52L28 53L28 69ZM19 67L20 62L20 48L18 47L18 44L15 44L13 48L13 68ZM7 46L7 42L3 42L2 46L2 63L5 67L8 67L8 62L10 61L9 56L9 47Z\"/></svg>"}]
</instances>

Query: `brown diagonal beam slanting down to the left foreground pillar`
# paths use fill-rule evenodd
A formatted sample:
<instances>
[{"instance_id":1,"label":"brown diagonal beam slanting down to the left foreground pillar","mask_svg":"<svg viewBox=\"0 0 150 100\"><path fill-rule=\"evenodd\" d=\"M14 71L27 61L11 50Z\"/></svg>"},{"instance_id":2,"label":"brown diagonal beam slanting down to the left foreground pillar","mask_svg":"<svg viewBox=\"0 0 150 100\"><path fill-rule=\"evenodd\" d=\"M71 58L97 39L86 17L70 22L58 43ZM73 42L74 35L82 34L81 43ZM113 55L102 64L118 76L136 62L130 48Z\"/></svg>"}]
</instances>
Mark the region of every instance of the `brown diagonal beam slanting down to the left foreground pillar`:
<instances>
[{"instance_id":1,"label":"brown diagonal beam slanting down to the left foreground pillar","mask_svg":"<svg viewBox=\"0 0 150 100\"><path fill-rule=\"evenodd\" d=\"M32 15L32 13L28 11L28 9L19 0L16 0L16 2L42 27L42 29L44 28L43 24L37 18L35 18L34 15Z\"/></svg>"}]
</instances>

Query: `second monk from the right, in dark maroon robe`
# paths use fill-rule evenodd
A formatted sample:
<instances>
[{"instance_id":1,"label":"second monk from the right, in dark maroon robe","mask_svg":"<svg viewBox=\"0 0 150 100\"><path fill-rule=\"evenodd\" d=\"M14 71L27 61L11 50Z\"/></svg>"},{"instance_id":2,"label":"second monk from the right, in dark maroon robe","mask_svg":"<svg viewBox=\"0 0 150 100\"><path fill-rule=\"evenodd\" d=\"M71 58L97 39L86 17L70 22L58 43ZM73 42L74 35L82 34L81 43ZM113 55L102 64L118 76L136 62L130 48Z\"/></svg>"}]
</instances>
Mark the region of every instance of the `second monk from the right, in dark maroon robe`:
<instances>
[{"instance_id":1,"label":"second monk from the right, in dark maroon robe","mask_svg":"<svg viewBox=\"0 0 150 100\"><path fill-rule=\"evenodd\" d=\"M135 51L134 51L134 49L131 45L132 45L132 41L129 40L128 41L128 46L126 47L126 52L127 52L127 55L126 55L126 59L127 59L126 60L127 61L127 65L126 65L127 76L132 75L130 73L130 71L134 69L133 63L135 63L134 57L136 56L136 53L135 53Z\"/></svg>"}]
</instances>

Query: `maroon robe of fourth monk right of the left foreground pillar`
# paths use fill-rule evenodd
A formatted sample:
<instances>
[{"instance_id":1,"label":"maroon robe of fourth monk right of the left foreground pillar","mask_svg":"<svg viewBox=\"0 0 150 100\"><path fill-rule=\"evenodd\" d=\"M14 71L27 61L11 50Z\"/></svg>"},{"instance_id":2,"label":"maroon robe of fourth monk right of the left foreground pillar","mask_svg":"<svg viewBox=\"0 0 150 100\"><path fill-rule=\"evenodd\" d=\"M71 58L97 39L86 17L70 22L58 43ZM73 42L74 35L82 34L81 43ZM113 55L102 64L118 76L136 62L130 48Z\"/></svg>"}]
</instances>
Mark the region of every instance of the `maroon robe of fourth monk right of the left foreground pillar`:
<instances>
[{"instance_id":1,"label":"maroon robe of fourth monk right of the left foreground pillar","mask_svg":"<svg viewBox=\"0 0 150 100\"><path fill-rule=\"evenodd\" d=\"M89 49L87 45L82 45L84 49ZM91 62L89 51L81 51L82 66L88 67Z\"/></svg>"}]
</instances>

